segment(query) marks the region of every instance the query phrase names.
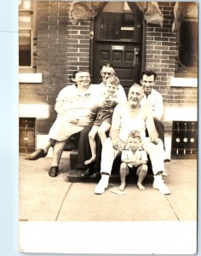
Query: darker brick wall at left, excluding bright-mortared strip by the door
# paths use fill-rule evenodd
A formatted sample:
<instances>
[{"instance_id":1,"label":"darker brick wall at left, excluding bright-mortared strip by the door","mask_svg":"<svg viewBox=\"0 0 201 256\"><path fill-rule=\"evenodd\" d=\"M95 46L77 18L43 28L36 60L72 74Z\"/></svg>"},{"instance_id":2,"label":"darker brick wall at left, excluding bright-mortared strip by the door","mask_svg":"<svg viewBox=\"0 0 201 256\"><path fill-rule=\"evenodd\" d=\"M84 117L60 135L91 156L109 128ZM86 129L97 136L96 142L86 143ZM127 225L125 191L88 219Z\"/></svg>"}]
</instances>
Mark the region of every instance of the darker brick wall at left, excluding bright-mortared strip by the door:
<instances>
[{"instance_id":1,"label":"darker brick wall at left, excluding bright-mortared strip by the door","mask_svg":"<svg viewBox=\"0 0 201 256\"><path fill-rule=\"evenodd\" d=\"M37 1L37 73L42 84L20 84L20 103L49 104L49 119L37 119L37 134L47 134L55 120L55 98L66 86L69 3Z\"/></svg>"}]
</instances>

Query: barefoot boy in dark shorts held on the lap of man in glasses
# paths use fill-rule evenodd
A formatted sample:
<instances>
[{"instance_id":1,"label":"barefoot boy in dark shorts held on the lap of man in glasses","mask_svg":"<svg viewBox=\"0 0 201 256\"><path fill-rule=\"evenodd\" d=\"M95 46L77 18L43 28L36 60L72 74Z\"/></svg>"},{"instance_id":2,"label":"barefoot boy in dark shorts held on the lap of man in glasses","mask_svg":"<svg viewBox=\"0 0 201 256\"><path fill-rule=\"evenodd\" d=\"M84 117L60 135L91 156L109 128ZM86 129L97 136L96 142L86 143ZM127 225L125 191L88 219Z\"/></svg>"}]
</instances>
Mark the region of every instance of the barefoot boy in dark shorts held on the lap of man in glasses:
<instances>
[{"instance_id":1,"label":"barefoot boy in dark shorts held on the lap of man in glasses","mask_svg":"<svg viewBox=\"0 0 201 256\"><path fill-rule=\"evenodd\" d=\"M95 136L98 133L100 137L101 144L106 140L106 131L109 131L112 123L112 113L114 108L118 104L118 96L116 94L118 90L119 79L116 76L111 76L106 79L106 91L103 97L106 99L106 102L112 101L112 108L106 107L104 105L102 108L96 108L95 106L91 108L91 112L96 115L95 123L89 131L89 145L91 148L91 158L84 162L84 165L89 165L96 158L96 143Z\"/></svg>"}]
</instances>

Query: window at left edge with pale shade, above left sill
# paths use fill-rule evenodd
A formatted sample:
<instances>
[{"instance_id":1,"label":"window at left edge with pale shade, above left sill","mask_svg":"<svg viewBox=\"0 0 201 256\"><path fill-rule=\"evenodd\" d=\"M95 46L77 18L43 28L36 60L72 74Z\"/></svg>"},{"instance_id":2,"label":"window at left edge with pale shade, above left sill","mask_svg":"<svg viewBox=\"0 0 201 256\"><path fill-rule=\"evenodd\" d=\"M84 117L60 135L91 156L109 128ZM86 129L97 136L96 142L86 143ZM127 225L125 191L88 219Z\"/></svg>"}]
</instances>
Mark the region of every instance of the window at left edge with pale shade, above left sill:
<instances>
[{"instance_id":1,"label":"window at left edge with pale shade, above left sill","mask_svg":"<svg viewBox=\"0 0 201 256\"><path fill-rule=\"evenodd\" d=\"M34 72L34 40L36 38L36 0L22 0L19 6L20 71Z\"/></svg>"}]
</instances>

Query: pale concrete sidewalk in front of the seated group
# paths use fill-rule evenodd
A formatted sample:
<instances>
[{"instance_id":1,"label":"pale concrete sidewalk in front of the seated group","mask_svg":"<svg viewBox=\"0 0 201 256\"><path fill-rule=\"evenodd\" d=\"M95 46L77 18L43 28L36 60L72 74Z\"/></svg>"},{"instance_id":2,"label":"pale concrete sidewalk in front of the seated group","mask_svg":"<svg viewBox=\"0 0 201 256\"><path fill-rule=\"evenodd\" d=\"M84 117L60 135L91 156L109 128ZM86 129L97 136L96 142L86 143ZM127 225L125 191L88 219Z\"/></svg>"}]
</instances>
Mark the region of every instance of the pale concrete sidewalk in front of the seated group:
<instances>
[{"instance_id":1,"label":"pale concrete sidewalk in front of the seated group","mask_svg":"<svg viewBox=\"0 0 201 256\"><path fill-rule=\"evenodd\" d=\"M165 163L165 183L172 191L163 195L145 183L140 191L129 183L126 195L106 189L95 195L95 183L68 181L69 160L61 159L58 177L49 177L51 159L27 161L20 155L20 220L32 221L196 221L197 160ZM110 188L118 186L110 183Z\"/></svg>"}]
</instances>

